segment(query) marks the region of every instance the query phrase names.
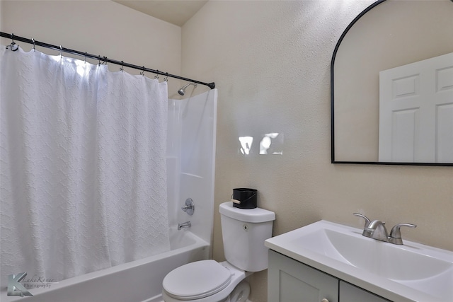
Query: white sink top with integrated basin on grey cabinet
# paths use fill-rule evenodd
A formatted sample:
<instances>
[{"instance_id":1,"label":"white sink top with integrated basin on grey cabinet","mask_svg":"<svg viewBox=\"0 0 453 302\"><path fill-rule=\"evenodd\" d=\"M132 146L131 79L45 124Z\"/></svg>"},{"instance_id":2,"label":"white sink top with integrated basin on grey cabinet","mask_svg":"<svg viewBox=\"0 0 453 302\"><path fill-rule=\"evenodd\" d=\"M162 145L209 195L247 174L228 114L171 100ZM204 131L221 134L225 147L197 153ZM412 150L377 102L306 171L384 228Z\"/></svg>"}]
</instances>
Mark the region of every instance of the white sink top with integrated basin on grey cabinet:
<instances>
[{"instance_id":1,"label":"white sink top with integrated basin on grey cabinet","mask_svg":"<svg viewBox=\"0 0 453 302\"><path fill-rule=\"evenodd\" d=\"M404 240L362 236L362 230L318 221L270 238L276 252L392 301L453 301L453 252Z\"/></svg>"}]
</instances>

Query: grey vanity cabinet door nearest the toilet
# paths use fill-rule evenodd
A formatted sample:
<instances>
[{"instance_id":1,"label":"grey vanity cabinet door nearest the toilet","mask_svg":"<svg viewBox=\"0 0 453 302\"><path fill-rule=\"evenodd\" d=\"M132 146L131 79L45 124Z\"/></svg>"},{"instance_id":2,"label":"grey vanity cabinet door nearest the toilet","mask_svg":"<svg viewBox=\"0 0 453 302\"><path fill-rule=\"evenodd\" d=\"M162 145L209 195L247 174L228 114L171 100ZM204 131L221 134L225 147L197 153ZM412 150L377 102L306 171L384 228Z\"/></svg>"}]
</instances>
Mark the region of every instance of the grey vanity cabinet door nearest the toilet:
<instances>
[{"instance_id":1,"label":"grey vanity cabinet door nearest the toilet","mask_svg":"<svg viewBox=\"0 0 453 302\"><path fill-rule=\"evenodd\" d=\"M268 301L338 302L338 279L269 250Z\"/></svg>"}]
</instances>

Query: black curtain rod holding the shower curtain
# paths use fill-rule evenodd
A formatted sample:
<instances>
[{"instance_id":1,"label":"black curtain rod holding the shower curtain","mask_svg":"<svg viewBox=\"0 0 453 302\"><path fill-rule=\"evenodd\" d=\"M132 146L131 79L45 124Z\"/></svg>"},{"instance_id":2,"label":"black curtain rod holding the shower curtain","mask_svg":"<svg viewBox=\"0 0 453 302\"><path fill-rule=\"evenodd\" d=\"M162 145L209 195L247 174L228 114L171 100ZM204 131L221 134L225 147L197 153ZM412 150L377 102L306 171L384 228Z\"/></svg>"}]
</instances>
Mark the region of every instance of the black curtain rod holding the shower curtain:
<instances>
[{"instance_id":1,"label":"black curtain rod holding the shower curtain","mask_svg":"<svg viewBox=\"0 0 453 302\"><path fill-rule=\"evenodd\" d=\"M90 58L90 59L97 59L100 63L101 62L102 63L113 63L113 64L121 65L122 67L123 66L130 67L132 69L138 69L138 70L141 70L141 71L151 72L152 74L161 74L163 76L169 76L171 78L180 79L180 80L183 80L183 81L189 81L191 83L197 83L197 84L200 84L200 85L205 85L205 86L208 86L211 89L215 88L215 83L214 82L212 82L212 83L203 83L203 82L200 82L200 81L195 81L193 79L184 78L182 76L176 76L174 74L168 74L168 72L163 72L163 71L159 71L159 70L149 69L149 68L146 68L145 66L138 66L138 65L134 65L134 64L130 64L130 63L125 63L125 62L122 62L122 61L117 61L117 60L114 60L114 59L108 59L108 57L101 57L101 55L88 54L87 52L79 52L79 50L70 50L69 48L62 47L62 45L59 45L59 46L51 45L51 44L47 44L45 42L40 42L40 41L37 41L37 40L34 40L34 39L27 39L25 37L20 37L18 35L14 35L13 33L9 34L9 33L0 32L0 36L1 37L7 37L7 38L11 39L12 40L11 45L16 44L14 42L14 40L18 40L18 41L25 42L25 43L28 43L28 44L33 44L33 47L35 47L35 45L41 46L41 47L46 47L46 48L50 48L52 50L58 50L59 52L67 52L69 54L77 54L77 55L79 55L81 57L86 57L86 58Z\"/></svg>"}]
</instances>

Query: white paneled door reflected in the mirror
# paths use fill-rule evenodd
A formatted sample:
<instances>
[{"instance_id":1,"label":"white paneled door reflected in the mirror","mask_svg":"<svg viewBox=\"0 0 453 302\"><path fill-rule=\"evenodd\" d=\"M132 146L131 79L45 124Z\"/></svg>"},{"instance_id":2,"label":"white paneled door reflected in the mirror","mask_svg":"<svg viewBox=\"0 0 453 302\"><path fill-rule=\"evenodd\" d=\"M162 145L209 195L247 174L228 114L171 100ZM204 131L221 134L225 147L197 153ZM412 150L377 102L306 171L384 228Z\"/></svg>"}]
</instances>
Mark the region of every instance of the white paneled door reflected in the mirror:
<instances>
[{"instance_id":1,"label":"white paneled door reflected in the mirror","mask_svg":"<svg viewBox=\"0 0 453 302\"><path fill-rule=\"evenodd\" d=\"M453 162L453 52L379 73L379 161Z\"/></svg>"}]
</instances>

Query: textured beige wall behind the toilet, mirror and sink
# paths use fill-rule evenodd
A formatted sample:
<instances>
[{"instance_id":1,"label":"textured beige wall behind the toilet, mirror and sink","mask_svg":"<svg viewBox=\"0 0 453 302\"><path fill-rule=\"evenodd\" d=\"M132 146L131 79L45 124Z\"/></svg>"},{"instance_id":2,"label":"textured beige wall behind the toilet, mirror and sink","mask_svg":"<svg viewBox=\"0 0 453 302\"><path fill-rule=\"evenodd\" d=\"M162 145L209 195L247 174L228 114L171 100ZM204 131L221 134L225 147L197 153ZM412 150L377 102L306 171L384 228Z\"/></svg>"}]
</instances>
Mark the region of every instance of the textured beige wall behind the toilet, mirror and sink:
<instances>
[{"instance_id":1,"label":"textured beige wall behind the toilet, mirror and sink","mask_svg":"<svg viewBox=\"0 0 453 302\"><path fill-rule=\"evenodd\" d=\"M210 1L183 26L183 74L219 88L214 259L224 260L217 209L234 187L259 191L274 235L319 219L360 228L360 212L416 223L404 238L453 250L451 167L330 163L331 55L371 3ZM282 156L239 153L238 137L268 132L284 134ZM267 300L266 282L252 275L251 301Z\"/></svg>"}]
</instances>

